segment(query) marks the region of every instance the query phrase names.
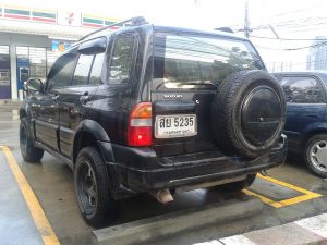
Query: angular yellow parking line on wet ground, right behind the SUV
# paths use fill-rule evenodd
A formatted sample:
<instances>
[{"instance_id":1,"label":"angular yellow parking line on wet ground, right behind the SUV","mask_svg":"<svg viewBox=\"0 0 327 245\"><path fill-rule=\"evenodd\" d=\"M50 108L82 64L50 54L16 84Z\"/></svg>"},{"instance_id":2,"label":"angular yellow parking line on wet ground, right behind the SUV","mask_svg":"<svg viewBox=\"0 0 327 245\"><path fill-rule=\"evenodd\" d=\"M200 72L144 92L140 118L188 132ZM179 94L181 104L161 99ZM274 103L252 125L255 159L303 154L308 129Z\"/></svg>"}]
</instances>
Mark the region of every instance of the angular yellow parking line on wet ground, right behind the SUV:
<instances>
[{"instance_id":1,"label":"angular yellow parking line on wet ground, right behind the SUV","mask_svg":"<svg viewBox=\"0 0 327 245\"><path fill-rule=\"evenodd\" d=\"M323 196L323 195L320 195L318 193L314 193L314 192L307 191L305 188L301 188L299 186L295 186L295 185L292 185L292 184L289 184L289 183L276 180L276 179L270 177L270 176L263 176L262 174L257 174L257 176L261 177L261 179L263 179L263 180L266 180L266 181L272 182L275 184L278 184L280 186L283 186L283 187L287 187L287 188L290 188L290 189L294 189L294 191L296 191L299 193L303 193L304 194L304 195L292 197L292 198L289 198L289 199L283 199L283 200L276 201L276 200L269 199L269 198L267 198L267 197L265 197L263 195L259 195L257 193L251 192L249 189L244 189L243 191L243 193L245 193L246 195L256 196L256 197L261 198L264 204L270 205L270 206L272 206L275 208L281 208L281 207L284 207L284 206L299 204L301 201L305 201L305 200L310 200L310 199Z\"/></svg>"}]
</instances>

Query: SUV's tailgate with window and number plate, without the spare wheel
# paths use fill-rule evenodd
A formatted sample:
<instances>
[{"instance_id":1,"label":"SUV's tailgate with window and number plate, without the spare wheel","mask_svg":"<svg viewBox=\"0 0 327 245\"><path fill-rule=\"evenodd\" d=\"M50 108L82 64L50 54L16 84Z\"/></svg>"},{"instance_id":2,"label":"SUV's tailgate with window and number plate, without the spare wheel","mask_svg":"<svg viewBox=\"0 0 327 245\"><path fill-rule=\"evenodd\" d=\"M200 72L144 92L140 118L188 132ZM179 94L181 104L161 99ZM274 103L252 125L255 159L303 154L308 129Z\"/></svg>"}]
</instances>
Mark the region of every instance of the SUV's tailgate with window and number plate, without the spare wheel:
<instances>
[{"instance_id":1,"label":"SUV's tailgate with window and number plate, without the spare wheel","mask_svg":"<svg viewBox=\"0 0 327 245\"><path fill-rule=\"evenodd\" d=\"M172 156L216 149L210 108L219 83L233 72L264 69L250 42L190 33L155 35L155 149Z\"/></svg>"}]
</instances>

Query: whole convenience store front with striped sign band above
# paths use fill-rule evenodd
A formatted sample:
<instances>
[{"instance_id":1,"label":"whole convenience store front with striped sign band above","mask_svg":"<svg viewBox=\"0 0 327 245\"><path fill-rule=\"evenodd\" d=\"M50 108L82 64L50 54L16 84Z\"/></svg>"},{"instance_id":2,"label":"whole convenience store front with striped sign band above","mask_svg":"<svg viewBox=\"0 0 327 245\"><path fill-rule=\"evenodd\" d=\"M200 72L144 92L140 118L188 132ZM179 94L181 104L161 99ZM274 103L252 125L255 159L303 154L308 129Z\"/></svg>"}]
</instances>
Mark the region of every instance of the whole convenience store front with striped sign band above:
<instances>
[{"instance_id":1,"label":"whole convenience store front with striped sign band above","mask_svg":"<svg viewBox=\"0 0 327 245\"><path fill-rule=\"evenodd\" d=\"M74 11L0 5L0 99L22 99L25 81L45 79L58 56L74 41L118 21Z\"/></svg>"}]
</instances>

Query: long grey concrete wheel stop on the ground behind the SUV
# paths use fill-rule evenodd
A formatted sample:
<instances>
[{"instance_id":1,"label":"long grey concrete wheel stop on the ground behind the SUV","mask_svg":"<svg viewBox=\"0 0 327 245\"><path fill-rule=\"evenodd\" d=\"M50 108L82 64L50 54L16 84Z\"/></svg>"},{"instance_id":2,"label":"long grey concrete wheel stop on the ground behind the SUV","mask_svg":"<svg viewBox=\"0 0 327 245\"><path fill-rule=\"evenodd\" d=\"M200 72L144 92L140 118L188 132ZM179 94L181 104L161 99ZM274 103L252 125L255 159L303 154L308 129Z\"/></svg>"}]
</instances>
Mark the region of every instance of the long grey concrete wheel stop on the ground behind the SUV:
<instances>
[{"instance_id":1,"label":"long grey concrete wheel stop on the ground behind the SUV","mask_svg":"<svg viewBox=\"0 0 327 245\"><path fill-rule=\"evenodd\" d=\"M246 200L241 201L231 200L223 204L210 204L201 208L191 208L96 230L93 232L94 244L142 244L183 231L195 230L214 223L249 217L258 213L262 210L262 200L254 197L249 197Z\"/></svg>"}]
</instances>

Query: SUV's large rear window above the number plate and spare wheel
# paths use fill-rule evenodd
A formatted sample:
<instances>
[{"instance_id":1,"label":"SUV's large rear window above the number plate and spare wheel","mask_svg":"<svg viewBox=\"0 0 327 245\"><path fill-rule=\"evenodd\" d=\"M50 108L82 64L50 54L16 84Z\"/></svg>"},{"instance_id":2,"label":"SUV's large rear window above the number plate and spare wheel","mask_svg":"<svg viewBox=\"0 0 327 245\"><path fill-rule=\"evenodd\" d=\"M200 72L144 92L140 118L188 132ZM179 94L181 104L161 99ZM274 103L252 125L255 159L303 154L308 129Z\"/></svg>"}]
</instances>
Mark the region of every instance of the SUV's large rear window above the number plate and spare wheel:
<instances>
[{"instance_id":1,"label":"SUV's large rear window above the number plate and spare wheel","mask_svg":"<svg viewBox=\"0 0 327 245\"><path fill-rule=\"evenodd\" d=\"M155 35L154 89L215 87L231 73L263 70L250 42L208 36Z\"/></svg>"}]
</instances>

